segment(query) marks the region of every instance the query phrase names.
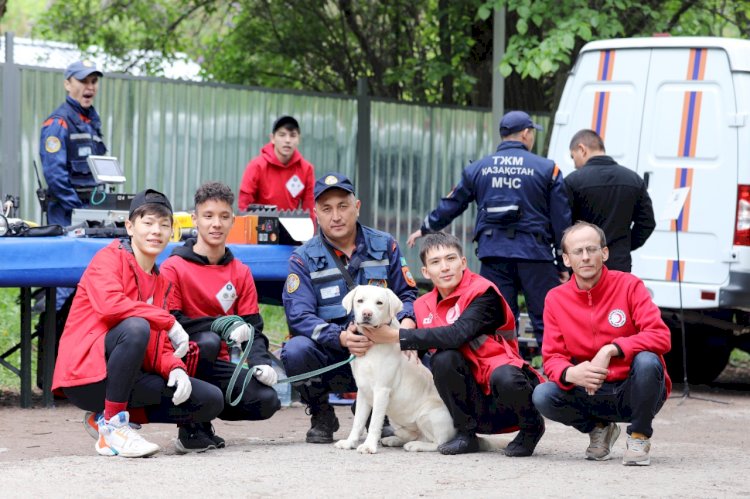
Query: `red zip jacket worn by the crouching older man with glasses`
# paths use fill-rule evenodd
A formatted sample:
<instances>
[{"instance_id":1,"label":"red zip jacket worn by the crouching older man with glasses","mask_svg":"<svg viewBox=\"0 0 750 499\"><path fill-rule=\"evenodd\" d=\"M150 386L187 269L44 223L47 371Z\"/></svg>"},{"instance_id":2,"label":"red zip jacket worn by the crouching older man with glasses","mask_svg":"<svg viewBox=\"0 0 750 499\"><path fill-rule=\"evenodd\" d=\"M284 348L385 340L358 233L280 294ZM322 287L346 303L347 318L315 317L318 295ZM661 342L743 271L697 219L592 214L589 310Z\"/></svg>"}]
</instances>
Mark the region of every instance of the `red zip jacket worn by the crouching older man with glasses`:
<instances>
[{"instance_id":1,"label":"red zip jacket worn by the crouching older man with glasses","mask_svg":"<svg viewBox=\"0 0 750 499\"><path fill-rule=\"evenodd\" d=\"M563 371L594 358L608 344L622 350L613 357L607 381L628 377L639 352L653 352L664 366L667 395L672 390L663 355L671 347L669 328L661 318L643 281L632 274L602 268L602 277L592 289L579 289L575 278L552 289L544 302L544 372L550 381L562 383Z\"/></svg>"}]
</instances>

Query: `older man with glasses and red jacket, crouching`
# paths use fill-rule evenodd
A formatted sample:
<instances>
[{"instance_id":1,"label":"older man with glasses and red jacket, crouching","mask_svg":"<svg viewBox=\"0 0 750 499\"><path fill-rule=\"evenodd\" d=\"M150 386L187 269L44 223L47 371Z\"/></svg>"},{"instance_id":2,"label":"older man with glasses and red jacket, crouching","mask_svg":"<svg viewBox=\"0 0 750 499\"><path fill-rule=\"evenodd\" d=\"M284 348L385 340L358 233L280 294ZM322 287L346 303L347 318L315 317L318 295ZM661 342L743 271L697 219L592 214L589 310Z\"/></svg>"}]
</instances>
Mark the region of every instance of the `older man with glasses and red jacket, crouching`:
<instances>
[{"instance_id":1,"label":"older man with glasses and red jacket, crouching","mask_svg":"<svg viewBox=\"0 0 750 499\"><path fill-rule=\"evenodd\" d=\"M609 459L617 422L629 422L623 464L648 465L651 423L672 388L663 357L669 328L640 279L604 266L599 227L569 227L562 249L574 278L547 294L542 357L551 383L536 387L534 404L589 434L589 460Z\"/></svg>"}]
</instances>

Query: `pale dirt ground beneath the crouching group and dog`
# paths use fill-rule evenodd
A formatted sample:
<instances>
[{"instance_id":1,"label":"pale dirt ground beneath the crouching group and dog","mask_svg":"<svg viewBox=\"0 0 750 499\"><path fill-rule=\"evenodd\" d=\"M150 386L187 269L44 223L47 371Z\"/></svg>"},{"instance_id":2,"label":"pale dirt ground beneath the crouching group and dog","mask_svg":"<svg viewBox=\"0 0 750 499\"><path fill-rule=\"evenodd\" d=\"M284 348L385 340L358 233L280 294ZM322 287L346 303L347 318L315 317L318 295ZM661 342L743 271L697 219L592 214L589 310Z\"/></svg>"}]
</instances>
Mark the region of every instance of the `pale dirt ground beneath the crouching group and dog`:
<instances>
[{"instance_id":1,"label":"pale dirt ground beneath the crouching group and dog","mask_svg":"<svg viewBox=\"0 0 750 499\"><path fill-rule=\"evenodd\" d=\"M263 422L218 421L227 448L204 454L175 454L176 429L147 425L142 431L161 453L106 458L83 430L82 411L64 402L20 409L6 394L0 497L748 497L750 375L742 376L691 387L687 399L677 384L654 422L649 467L621 464L624 431L614 459L591 462L583 459L588 437L551 422L531 458L401 449L360 455L304 443L309 418L301 407ZM337 413L336 437L344 438L351 412Z\"/></svg>"}]
</instances>

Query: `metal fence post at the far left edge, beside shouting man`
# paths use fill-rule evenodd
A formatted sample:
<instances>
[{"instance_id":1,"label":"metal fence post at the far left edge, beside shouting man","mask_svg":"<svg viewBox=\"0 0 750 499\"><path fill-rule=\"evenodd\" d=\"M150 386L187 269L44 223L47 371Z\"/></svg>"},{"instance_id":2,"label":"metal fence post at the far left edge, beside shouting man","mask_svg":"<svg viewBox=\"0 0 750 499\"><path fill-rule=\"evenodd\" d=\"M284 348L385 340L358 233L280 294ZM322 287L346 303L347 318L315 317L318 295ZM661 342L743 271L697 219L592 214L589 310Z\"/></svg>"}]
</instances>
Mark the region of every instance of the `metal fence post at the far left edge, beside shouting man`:
<instances>
[{"instance_id":1,"label":"metal fence post at the far left edge, beside shouting man","mask_svg":"<svg viewBox=\"0 0 750 499\"><path fill-rule=\"evenodd\" d=\"M0 195L21 194L19 134L21 130L21 72L13 60L13 33L5 33L3 65L3 127L0 155ZM24 210L25 211L25 210Z\"/></svg>"}]
</instances>

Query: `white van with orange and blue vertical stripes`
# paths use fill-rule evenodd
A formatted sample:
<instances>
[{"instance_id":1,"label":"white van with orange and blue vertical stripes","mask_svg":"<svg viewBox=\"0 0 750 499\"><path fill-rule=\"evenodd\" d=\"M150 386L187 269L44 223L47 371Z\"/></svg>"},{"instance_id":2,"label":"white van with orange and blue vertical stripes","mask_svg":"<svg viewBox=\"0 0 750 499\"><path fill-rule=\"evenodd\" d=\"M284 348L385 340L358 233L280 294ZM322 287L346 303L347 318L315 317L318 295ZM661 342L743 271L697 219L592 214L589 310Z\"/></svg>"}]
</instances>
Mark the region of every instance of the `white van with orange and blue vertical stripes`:
<instances>
[{"instance_id":1,"label":"white van with orange and blue vertical stripes","mask_svg":"<svg viewBox=\"0 0 750 499\"><path fill-rule=\"evenodd\" d=\"M672 328L669 369L682 380L680 282L688 380L713 380L735 346L750 351L750 41L654 37L586 44L555 114L549 157L596 130L607 154L647 182L657 227L633 253ZM689 187L679 218L660 220ZM678 246L679 243L679 246Z\"/></svg>"}]
</instances>

